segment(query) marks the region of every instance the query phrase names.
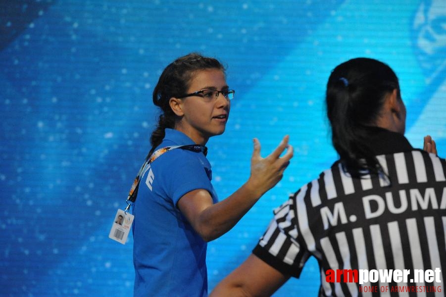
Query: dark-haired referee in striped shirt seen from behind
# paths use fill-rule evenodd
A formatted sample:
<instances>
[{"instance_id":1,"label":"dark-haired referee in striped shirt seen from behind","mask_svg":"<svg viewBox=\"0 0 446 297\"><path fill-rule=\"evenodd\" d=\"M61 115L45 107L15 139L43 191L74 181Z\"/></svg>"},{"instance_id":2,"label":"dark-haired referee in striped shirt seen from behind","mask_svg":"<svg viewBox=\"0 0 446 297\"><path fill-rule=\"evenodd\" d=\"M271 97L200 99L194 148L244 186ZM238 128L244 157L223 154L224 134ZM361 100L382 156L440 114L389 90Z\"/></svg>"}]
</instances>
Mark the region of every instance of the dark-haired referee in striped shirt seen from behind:
<instances>
[{"instance_id":1,"label":"dark-haired referee in striped shirt seen from behind","mask_svg":"<svg viewBox=\"0 0 446 297\"><path fill-rule=\"evenodd\" d=\"M211 296L271 296L319 263L319 296L445 296L446 162L428 136L403 136L406 110L395 72L355 58L326 91L331 168L274 210L248 259Z\"/></svg>"}]
</instances>

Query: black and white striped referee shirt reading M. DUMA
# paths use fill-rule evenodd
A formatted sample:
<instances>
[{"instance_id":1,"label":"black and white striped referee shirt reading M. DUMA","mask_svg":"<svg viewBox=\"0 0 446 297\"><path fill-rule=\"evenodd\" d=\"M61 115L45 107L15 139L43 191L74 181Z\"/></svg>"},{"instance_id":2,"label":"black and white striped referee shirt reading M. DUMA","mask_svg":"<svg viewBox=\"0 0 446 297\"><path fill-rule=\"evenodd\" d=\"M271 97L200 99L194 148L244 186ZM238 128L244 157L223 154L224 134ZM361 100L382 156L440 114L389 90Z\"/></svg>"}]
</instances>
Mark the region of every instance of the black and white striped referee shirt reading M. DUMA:
<instances>
[{"instance_id":1,"label":"black and white striped referee shirt reading M. DUMA","mask_svg":"<svg viewBox=\"0 0 446 297\"><path fill-rule=\"evenodd\" d=\"M295 277L310 256L316 257L320 296L445 296L446 162L413 149L402 135L386 132L380 137L387 139L386 146L376 151L386 154L377 158L388 177L351 178L335 162L274 210L253 253ZM440 282L359 285L326 281L329 269L413 272L436 268L441 269ZM418 293L370 293L361 289L402 285L441 286L442 292L425 288Z\"/></svg>"}]
</instances>

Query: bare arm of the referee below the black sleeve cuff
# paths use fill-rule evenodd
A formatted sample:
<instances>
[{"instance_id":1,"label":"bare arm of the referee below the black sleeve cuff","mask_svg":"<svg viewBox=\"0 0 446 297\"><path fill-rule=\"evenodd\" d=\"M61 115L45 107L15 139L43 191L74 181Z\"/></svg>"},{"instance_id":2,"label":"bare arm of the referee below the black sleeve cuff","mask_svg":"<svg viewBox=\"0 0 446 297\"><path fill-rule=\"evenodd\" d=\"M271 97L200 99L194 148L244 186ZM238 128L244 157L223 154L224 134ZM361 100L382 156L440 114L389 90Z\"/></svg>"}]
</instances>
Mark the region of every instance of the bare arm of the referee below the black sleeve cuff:
<instances>
[{"instance_id":1,"label":"bare arm of the referee below the black sleeve cuff","mask_svg":"<svg viewBox=\"0 0 446 297\"><path fill-rule=\"evenodd\" d=\"M223 279L210 297L271 296L290 277L251 254L242 265Z\"/></svg>"}]
</instances>

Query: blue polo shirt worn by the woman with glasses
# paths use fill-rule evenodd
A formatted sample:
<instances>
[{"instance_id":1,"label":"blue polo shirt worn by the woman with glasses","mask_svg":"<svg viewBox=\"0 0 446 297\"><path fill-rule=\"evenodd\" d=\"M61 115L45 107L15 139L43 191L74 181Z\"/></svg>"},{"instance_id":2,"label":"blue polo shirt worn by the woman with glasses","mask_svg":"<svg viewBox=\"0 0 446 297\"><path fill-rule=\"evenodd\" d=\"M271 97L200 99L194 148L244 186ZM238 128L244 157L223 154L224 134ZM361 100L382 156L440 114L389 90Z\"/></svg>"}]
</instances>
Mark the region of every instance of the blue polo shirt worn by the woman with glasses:
<instances>
[{"instance_id":1,"label":"blue polo shirt worn by the woman with glasses","mask_svg":"<svg viewBox=\"0 0 446 297\"><path fill-rule=\"evenodd\" d=\"M158 148L192 144L182 132L166 129ZM133 211L135 297L207 296L207 243L177 203L197 189L207 190L214 203L218 202L210 180L211 166L201 152L176 148L150 164Z\"/></svg>"}]
</instances>

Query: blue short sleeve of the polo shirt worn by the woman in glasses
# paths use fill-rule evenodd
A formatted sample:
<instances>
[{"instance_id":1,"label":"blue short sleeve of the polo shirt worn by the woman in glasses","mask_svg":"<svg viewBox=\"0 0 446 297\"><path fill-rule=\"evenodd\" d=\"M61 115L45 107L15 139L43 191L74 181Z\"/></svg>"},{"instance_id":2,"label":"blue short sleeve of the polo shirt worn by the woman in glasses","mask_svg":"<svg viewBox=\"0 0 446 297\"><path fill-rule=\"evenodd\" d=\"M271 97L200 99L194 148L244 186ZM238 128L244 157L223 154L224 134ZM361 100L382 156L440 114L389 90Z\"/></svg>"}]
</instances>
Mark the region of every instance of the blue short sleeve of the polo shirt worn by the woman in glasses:
<instances>
[{"instance_id":1,"label":"blue short sleeve of the polo shirt worn by the woman in glasses","mask_svg":"<svg viewBox=\"0 0 446 297\"><path fill-rule=\"evenodd\" d=\"M208 176L210 164L202 154L175 149L161 155L154 162L158 162L158 172L154 172L155 180L160 177L158 181L162 183L165 197L171 199L175 206L181 197L193 190L204 189L213 193Z\"/></svg>"}]
</instances>

